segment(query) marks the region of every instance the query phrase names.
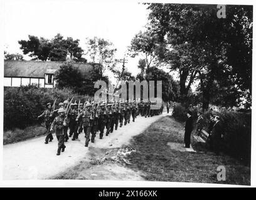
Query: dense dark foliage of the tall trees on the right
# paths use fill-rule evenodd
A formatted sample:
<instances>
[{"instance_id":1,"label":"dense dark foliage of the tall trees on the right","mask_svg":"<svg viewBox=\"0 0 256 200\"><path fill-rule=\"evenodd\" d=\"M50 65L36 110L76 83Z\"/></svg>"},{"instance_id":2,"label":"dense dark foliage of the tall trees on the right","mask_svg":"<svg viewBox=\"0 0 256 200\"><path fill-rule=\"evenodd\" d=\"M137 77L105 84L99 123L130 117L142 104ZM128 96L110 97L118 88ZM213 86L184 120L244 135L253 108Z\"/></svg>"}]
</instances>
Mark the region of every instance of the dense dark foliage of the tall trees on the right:
<instances>
[{"instance_id":1,"label":"dense dark foliage of the tall trees on the right","mask_svg":"<svg viewBox=\"0 0 256 200\"><path fill-rule=\"evenodd\" d=\"M227 6L225 19L216 16L214 5L150 4L148 9L159 36L157 58L179 72L181 96L186 98L195 79L204 108L214 82L223 78L240 96L251 91L252 6Z\"/></svg>"}]
</instances>

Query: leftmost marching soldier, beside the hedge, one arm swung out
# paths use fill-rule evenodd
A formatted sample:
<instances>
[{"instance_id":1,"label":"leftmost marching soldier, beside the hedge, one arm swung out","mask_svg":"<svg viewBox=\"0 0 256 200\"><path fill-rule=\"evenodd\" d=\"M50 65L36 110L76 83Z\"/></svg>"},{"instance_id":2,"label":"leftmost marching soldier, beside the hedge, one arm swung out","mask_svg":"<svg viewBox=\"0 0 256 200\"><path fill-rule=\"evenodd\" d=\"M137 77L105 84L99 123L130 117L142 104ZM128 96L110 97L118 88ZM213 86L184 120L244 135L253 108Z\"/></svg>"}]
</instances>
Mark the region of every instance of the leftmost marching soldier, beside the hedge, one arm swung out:
<instances>
[{"instance_id":1,"label":"leftmost marching soldier, beside the hedge, one arm swung out","mask_svg":"<svg viewBox=\"0 0 256 200\"><path fill-rule=\"evenodd\" d=\"M53 135L51 134L50 128L51 128L51 122L53 121L53 113L51 112L51 103L46 104L46 109L43 111L39 118L45 119L45 128L46 128L46 138L45 138L45 144L48 144L48 141L50 142L53 140Z\"/></svg>"}]
</instances>

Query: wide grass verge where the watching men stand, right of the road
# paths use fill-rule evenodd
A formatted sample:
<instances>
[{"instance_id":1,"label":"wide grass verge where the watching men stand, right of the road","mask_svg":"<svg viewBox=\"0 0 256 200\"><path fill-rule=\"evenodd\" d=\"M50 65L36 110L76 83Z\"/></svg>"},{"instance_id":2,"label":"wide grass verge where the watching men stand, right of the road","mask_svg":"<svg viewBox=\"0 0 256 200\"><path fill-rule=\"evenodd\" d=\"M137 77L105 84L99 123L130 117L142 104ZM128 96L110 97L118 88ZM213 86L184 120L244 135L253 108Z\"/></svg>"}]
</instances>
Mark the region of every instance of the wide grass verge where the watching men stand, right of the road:
<instances>
[{"instance_id":1,"label":"wide grass verge where the watching men stand, right of the road","mask_svg":"<svg viewBox=\"0 0 256 200\"><path fill-rule=\"evenodd\" d=\"M250 185L250 167L230 156L177 151L167 144L183 145L183 138L183 124L172 117L159 119L132 139L129 168L142 171L148 181ZM218 166L225 166L226 181L216 179Z\"/></svg>"}]
</instances>

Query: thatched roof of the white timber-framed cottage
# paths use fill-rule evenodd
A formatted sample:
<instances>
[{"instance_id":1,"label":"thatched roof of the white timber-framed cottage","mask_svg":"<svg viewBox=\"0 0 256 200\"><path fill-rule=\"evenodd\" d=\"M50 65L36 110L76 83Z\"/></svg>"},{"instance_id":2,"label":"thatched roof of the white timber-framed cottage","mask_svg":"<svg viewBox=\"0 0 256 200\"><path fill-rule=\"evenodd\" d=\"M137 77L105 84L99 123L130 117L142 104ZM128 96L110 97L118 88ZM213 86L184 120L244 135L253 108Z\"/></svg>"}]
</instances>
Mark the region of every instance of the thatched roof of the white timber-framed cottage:
<instances>
[{"instance_id":1,"label":"thatched roof of the white timber-framed cottage","mask_svg":"<svg viewBox=\"0 0 256 200\"><path fill-rule=\"evenodd\" d=\"M53 61L4 61L4 76L45 78L45 73L54 73L64 64ZM73 63L83 76L93 69L93 64Z\"/></svg>"}]
</instances>

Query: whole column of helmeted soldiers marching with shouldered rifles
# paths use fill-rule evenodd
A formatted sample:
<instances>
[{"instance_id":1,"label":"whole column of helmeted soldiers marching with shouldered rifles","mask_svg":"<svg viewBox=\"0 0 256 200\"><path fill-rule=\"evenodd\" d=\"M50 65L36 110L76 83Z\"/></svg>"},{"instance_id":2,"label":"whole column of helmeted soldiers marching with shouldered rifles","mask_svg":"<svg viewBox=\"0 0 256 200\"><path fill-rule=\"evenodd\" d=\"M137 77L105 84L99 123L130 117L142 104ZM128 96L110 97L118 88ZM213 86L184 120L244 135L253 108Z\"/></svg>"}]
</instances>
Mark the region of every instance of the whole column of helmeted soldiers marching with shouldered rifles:
<instances>
[{"instance_id":1,"label":"whole column of helmeted soldiers marching with shouldered rifles","mask_svg":"<svg viewBox=\"0 0 256 200\"><path fill-rule=\"evenodd\" d=\"M55 109L55 103L53 106L48 103L46 110L38 118L45 118L47 133L45 144L53 140L52 132L55 129L58 139L57 155L65 151L64 143L67 143L69 138L72 138L72 141L77 140L82 131L85 133L85 147L88 147L89 142L95 142L97 131L100 132L99 138L102 139L104 129L106 129L105 136L108 136L114 129L117 130L118 125L122 128L123 124L126 126L131 120L134 122L139 114L149 118L163 113L163 105L160 109L152 109L156 103L150 101L139 101L139 103L131 100L109 103L87 101L84 104L79 101L77 104L72 103L72 100L65 100L58 104L58 109Z\"/></svg>"}]
</instances>

